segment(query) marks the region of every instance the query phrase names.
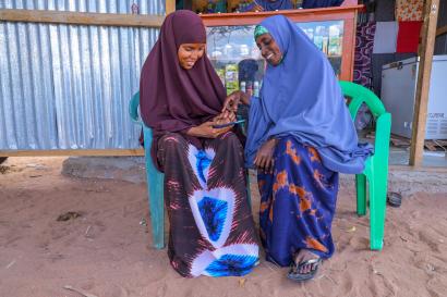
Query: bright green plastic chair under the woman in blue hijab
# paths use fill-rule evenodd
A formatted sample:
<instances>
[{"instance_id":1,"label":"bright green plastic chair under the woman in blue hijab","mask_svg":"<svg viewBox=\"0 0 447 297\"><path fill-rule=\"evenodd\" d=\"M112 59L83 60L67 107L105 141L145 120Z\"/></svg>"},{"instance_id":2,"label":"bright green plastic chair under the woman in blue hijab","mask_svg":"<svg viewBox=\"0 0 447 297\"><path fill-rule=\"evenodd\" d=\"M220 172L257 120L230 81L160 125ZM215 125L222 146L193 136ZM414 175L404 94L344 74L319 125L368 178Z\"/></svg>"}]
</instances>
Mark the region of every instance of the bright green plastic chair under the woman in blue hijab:
<instances>
[{"instance_id":1,"label":"bright green plastic chair under the woman in blue hijab","mask_svg":"<svg viewBox=\"0 0 447 297\"><path fill-rule=\"evenodd\" d=\"M351 98L349 112L353 121L362 103L370 108L376 121L374 154L366 160L363 173L355 175L355 187L359 215L366 214L366 190L369 191L370 247L373 250L380 250L384 246L391 114L385 110L377 96L367 88L350 82L340 82L340 87L343 95Z\"/></svg>"}]
</instances>

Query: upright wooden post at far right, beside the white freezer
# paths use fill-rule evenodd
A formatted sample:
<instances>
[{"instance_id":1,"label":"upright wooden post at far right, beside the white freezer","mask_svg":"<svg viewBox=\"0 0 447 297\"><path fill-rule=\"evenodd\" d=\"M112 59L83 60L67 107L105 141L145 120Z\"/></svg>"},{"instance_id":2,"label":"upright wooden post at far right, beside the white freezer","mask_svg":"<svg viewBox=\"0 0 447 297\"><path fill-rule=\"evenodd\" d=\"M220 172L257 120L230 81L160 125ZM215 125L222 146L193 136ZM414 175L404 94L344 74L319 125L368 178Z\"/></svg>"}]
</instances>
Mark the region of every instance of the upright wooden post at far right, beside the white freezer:
<instances>
[{"instance_id":1,"label":"upright wooden post at far right, beside the white freezer","mask_svg":"<svg viewBox=\"0 0 447 297\"><path fill-rule=\"evenodd\" d=\"M439 10L439 0L425 0L424 2L424 25L422 27L422 45L420 49L413 128L410 149L410 165L412 166L422 165L430 77L432 74L433 51L436 38L436 23Z\"/></svg>"}]
</instances>

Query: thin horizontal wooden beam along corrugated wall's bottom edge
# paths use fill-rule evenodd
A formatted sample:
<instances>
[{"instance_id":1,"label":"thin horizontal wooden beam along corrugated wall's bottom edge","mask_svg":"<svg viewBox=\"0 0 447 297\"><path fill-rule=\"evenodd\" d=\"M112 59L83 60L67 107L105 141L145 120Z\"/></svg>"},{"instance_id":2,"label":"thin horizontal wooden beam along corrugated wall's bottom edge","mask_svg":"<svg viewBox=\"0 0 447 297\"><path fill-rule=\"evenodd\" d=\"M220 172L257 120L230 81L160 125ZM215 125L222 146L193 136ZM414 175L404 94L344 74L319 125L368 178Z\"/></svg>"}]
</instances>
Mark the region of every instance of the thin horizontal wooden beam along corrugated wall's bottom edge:
<instances>
[{"instance_id":1,"label":"thin horizontal wooden beam along corrugated wall's bottom edge","mask_svg":"<svg viewBox=\"0 0 447 297\"><path fill-rule=\"evenodd\" d=\"M144 156L144 149L0 150L1 157Z\"/></svg>"}]
</instances>

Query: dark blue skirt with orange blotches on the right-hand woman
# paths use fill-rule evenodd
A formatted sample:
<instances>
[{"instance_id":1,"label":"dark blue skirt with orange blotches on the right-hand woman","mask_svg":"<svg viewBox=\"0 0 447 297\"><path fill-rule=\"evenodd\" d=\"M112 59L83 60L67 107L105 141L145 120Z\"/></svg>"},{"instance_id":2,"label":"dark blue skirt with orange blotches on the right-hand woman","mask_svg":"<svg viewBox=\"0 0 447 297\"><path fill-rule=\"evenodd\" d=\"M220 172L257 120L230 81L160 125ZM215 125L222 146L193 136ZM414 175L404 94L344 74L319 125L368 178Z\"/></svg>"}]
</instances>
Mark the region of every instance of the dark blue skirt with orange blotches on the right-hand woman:
<instances>
[{"instance_id":1,"label":"dark blue skirt with orange blotches on the right-hand woman","mask_svg":"<svg viewBox=\"0 0 447 297\"><path fill-rule=\"evenodd\" d=\"M336 210L338 172L326 169L317 151L293 136L280 138L274 174L257 175L261 239L268 261L289 265L307 249L322 258L335 250L330 226Z\"/></svg>"}]
</instances>

